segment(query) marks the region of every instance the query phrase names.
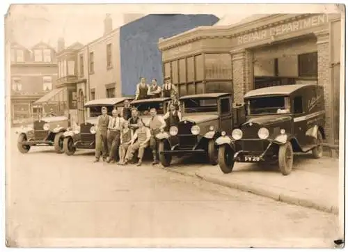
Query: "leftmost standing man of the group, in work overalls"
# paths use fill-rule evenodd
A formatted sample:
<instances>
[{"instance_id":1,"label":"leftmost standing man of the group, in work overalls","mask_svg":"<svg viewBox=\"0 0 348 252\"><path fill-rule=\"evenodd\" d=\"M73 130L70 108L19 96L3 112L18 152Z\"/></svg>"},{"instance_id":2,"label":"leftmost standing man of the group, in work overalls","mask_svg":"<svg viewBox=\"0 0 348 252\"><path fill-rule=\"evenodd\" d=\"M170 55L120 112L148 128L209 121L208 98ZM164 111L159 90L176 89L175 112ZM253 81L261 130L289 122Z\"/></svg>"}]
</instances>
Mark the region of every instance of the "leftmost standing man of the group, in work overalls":
<instances>
[{"instance_id":1,"label":"leftmost standing man of the group, in work overalls","mask_svg":"<svg viewBox=\"0 0 348 252\"><path fill-rule=\"evenodd\" d=\"M106 161L108 153L107 131L111 116L107 115L106 107L102 107L102 115L97 118L95 132L95 161L99 162L100 155L103 155L103 161Z\"/></svg>"}]
</instances>

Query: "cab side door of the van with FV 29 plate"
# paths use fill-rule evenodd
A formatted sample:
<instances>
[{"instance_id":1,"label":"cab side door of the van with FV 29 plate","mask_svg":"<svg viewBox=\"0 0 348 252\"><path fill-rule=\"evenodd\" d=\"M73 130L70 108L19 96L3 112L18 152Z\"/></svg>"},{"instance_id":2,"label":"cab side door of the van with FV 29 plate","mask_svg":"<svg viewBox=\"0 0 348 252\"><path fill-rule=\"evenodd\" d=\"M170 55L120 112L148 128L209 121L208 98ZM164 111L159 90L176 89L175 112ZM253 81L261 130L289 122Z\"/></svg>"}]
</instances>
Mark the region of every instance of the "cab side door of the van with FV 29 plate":
<instances>
[{"instance_id":1,"label":"cab side door of the van with FV 29 plate","mask_svg":"<svg viewBox=\"0 0 348 252\"><path fill-rule=\"evenodd\" d=\"M306 145L306 111L303 106L303 96L296 95L292 100L292 108L294 113L293 134L301 146Z\"/></svg>"}]
</instances>

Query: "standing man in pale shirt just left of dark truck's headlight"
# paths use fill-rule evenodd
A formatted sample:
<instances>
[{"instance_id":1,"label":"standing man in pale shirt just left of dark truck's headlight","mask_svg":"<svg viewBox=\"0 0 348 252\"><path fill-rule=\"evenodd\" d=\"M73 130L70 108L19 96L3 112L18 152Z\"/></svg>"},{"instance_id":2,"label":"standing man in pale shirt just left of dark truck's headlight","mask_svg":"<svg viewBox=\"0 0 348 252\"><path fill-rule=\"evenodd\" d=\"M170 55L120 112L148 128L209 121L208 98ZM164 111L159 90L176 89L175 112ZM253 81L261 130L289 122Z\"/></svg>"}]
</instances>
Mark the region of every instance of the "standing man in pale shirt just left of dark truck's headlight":
<instances>
[{"instance_id":1,"label":"standing man in pale shirt just left of dark truck's headlight","mask_svg":"<svg viewBox=\"0 0 348 252\"><path fill-rule=\"evenodd\" d=\"M166 122L164 119L157 115L155 108L150 109L150 120L148 121L148 127L150 127L151 139L150 139L150 148L152 149L153 162L152 164L158 164L157 160L157 140L156 135L161 132L161 129L166 127Z\"/></svg>"}]
</instances>

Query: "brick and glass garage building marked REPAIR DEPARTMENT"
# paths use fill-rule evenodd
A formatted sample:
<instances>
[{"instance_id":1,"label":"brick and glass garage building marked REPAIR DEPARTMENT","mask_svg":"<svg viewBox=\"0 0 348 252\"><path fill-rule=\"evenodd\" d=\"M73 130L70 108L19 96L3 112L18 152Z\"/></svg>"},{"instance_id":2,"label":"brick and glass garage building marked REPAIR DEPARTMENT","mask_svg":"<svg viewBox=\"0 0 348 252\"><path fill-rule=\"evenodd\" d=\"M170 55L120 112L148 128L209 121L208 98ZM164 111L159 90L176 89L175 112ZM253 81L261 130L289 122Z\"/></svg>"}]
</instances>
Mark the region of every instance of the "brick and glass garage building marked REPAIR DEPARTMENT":
<instances>
[{"instance_id":1,"label":"brick and glass garage building marked REPAIR DEPARTMENT","mask_svg":"<svg viewBox=\"0 0 348 252\"><path fill-rule=\"evenodd\" d=\"M338 146L340 15L277 14L232 26L198 27L159 40L164 74L180 95L287 84L324 86L326 141Z\"/></svg>"}]
</instances>

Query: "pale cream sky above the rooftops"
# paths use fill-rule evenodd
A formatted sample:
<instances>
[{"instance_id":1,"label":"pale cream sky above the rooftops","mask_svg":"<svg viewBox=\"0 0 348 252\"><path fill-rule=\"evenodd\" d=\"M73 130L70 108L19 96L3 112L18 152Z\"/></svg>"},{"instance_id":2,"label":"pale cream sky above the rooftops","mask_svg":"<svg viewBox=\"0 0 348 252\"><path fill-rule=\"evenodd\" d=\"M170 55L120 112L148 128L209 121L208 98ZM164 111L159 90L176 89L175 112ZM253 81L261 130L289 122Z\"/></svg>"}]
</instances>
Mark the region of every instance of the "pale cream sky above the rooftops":
<instances>
[{"instance_id":1,"label":"pale cream sky above the rooftops","mask_svg":"<svg viewBox=\"0 0 348 252\"><path fill-rule=\"evenodd\" d=\"M106 13L113 19L113 28L123 24L123 13L182 13L213 14L233 24L248 16L265 13L323 13L337 11L324 4L308 4L306 8L296 4L59 4L12 5L8 10L6 28L12 40L24 47L47 42L56 48L59 37L65 38L65 46L74 42L87 44L103 35Z\"/></svg>"}]
</instances>

